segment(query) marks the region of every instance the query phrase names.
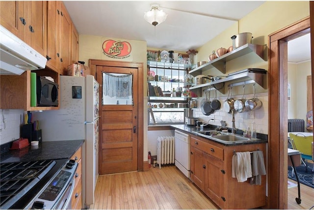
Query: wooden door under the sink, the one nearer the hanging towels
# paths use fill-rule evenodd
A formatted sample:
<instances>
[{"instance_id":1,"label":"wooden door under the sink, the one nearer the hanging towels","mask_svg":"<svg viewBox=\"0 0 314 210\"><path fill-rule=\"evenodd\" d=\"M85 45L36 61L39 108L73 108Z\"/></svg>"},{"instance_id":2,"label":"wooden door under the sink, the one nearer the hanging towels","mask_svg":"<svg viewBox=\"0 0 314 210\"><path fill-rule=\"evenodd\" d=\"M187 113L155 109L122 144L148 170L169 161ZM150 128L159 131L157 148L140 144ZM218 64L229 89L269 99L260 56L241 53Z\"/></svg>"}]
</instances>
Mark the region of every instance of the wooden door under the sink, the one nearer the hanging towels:
<instances>
[{"instance_id":1,"label":"wooden door under the sink, the one nearer the hanging towels","mask_svg":"<svg viewBox=\"0 0 314 210\"><path fill-rule=\"evenodd\" d=\"M205 193L214 201L220 208L224 207L223 195L224 189L224 171L223 162L205 154Z\"/></svg>"}]
</instances>

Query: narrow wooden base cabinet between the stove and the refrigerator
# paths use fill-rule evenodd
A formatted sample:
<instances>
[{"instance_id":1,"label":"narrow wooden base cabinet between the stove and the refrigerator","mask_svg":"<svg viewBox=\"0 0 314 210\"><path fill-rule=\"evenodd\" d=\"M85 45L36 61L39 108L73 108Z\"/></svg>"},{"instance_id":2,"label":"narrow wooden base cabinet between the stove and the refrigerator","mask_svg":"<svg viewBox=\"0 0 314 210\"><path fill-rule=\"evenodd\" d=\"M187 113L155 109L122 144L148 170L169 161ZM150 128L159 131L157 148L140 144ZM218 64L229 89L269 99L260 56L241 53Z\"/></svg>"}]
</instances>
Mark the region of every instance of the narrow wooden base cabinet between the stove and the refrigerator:
<instances>
[{"instance_id":1,"label":"narrow wooden base cabinet between the stove and the refrigerator","mask_svg":"<svg viewBox=\"0 0 314 210\"><path fill-rule=\"evenodd\" d=\"M74 191L71 196L71 209L82 209L82 154L81 147L72 156L72 160L78 163L77 172L75 173L73 179L75 182Z\"/></svg>"}]
</instances>

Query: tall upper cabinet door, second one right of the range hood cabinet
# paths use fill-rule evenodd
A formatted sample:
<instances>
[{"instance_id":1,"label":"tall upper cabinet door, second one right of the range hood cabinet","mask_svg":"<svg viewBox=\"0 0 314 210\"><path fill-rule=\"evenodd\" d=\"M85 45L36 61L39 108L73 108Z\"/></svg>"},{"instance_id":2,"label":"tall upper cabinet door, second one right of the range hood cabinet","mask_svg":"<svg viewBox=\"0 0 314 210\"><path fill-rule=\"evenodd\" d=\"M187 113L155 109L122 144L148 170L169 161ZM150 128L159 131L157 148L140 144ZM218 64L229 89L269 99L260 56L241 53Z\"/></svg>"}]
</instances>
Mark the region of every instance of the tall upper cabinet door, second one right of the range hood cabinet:
<instances>
[{"instance_id":1,"label":"tall upper cabinet door, second one right of the range hood cabinet","mask_svg":"<svg viewBox=\"0 0 314 210\"><path fill-rule=\"evenodd\" d=\"M61 69L60 74L67 75L68 74L68 66L70 65L71 61L71 49L72 49L72 42L71 42L71 18L64 6L64 3L61 3Z\"/></svg>"}]
</instances>

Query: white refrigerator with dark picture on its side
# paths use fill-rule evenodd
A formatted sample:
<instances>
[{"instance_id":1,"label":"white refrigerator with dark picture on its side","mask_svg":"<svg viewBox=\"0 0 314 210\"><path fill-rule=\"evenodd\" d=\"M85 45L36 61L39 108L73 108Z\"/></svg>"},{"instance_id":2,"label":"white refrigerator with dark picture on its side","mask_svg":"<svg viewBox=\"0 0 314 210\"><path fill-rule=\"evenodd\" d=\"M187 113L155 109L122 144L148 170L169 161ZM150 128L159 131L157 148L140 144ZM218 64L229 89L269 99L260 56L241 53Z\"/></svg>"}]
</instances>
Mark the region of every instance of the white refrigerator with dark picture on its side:
<instances>
[{"instance_id":1,"label":"white refrigerator with dark picture on its side","mask_svg":"<svg viewBox=\"0 0 314 210\"><path fill-rule=\"evenodd\" d=\"M43 141L85 140L82 160L82 198L94 203L98 178L99 84L94 76L60 76L59 110L33 112Z\"/></svg>"}]
</instances>

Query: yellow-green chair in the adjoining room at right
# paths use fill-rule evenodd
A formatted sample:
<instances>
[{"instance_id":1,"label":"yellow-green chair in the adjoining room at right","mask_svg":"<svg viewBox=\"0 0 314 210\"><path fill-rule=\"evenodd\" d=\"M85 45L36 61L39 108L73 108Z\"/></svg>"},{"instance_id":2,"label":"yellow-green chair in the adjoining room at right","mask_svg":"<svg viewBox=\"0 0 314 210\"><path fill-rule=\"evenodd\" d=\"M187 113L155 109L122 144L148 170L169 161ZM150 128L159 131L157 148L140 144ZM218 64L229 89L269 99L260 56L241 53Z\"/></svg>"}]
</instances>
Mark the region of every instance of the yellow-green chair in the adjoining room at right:
<instances>
[{"instance_id":1,"label":"yellow-green chair in the adjoining room at right","mask_svg":"<svg viewBox=\"0 0 314 210\"><path fill-rule=\"evenodd\" d=\"M301 162L305 165L307 171L307 160L313 160L313 136L305 137L299 135L302 134L289 134L289 137L291 140L292 148L295 150L299 150L302 153ZM314 167L312 171L314 172Z\"/></svg>"}]
</instances>

